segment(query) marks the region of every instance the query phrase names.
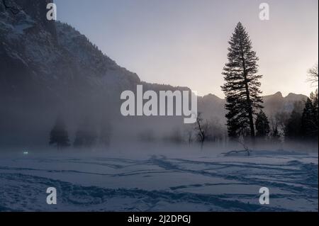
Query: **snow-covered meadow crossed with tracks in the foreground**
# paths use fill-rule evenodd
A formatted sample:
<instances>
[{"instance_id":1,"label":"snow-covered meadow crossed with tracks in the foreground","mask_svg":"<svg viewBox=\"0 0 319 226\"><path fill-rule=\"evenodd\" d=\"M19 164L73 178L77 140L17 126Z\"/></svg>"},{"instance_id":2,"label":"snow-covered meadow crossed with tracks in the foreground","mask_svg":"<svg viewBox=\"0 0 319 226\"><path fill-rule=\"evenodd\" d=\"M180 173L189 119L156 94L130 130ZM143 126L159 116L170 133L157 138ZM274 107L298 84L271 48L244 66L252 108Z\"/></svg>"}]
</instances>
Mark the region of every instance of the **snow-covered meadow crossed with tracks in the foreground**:
<instances>
[{"instance_id":1,"label":"snow-covered meadow crossed with tracks in the foreground","mask_svg":"<svg viewBox=\"0 0 319 226\"><path fill-rule=\"evenodd\" d=\"M318 154L164 153L0 154L0 211L318 211Z\"/></svg>"}]
</instances>

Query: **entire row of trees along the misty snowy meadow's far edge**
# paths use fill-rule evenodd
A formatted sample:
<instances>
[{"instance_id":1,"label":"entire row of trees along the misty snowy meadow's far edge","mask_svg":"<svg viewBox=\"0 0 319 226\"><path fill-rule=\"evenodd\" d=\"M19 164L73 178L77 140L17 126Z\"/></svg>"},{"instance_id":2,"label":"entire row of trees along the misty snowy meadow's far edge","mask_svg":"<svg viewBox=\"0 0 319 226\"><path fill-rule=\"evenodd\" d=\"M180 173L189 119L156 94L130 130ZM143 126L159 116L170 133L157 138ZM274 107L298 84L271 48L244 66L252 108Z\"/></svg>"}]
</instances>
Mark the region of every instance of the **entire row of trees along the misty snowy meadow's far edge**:
<instances>
[{"instance_id":1,"label":"entire row of trees along the misty snowy meadow's far edge","mask_svg":"<svg viewBox=\"0 0 319 226\"><path fill-rule=\"evenodd\" d=\"M196 140L203 146L204 142L222 140L306 140L318 142L318 89L311 92L305 103L294 103L290 114L281 112L270 118L263 111L262 91L260 90L262 75L258 73L259 58L252 50L252 41L242 23L237 23L230 38L228 62L223 68L225 84L221 86L225 94L225 115L227 134L217 121L204 120L198 113L196 123L191 128L184 128L184 134L173 131L164 140L171 142L193 142ZM318 64L308 70L308 81L318 86ZM142 134L141 140L154 140L151 132ZM84 123L75 133L74 147L92 147L97 142L108 144L110 130L103 127L99 134L89 129ZM65 123L58 118L50 132L50 145L61 149L69 147L68 132Z\"/></svg>"}]
</instances>

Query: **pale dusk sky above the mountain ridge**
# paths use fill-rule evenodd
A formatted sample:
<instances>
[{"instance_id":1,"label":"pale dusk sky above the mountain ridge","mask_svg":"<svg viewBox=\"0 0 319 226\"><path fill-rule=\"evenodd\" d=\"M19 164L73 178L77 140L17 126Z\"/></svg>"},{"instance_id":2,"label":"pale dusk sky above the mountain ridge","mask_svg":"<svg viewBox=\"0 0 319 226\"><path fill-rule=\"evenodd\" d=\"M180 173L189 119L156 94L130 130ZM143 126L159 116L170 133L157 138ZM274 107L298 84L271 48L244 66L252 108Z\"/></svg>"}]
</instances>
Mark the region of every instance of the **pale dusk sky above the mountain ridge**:
<instances>
[{"instance_id":1,"label":"pale dusk sky above the mountain ridge","mask_svg":"<svg viewBox=\"0 0 319 226\"><path fill-rule=\"evenodd\" d=\"M269 21L259 4L269 4ZM263 95L308 95L318 62L318 0L55 0L69 23L142 81L224 97L223 67L238 21L263 74Z\"/></svg>"}]
</instances>

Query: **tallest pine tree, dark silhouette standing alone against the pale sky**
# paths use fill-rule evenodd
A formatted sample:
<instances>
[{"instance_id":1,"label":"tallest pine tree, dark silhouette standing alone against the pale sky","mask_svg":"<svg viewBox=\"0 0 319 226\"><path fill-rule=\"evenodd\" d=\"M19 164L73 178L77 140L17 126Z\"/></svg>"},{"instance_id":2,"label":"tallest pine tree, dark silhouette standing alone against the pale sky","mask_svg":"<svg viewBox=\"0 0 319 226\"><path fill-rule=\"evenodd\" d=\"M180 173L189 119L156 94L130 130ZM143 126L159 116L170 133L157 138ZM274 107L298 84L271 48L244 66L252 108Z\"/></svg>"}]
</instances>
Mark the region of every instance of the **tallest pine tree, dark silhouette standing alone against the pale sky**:
<instances>
[{"instance_id":1,"label":"tallest pine tree, dark silhouette standing alone against the pale sky","mask_svg":"<svg viewBox=\"0 0 319 226\"><path fill-rule=\"evenodd\" d=\"M254 115L262 109L259 89L262 75L257 74L259 59L242 23L237 23L229 44L228 63L223 69L225 84L221 86L227 101L228 135L235 138L248 133L254 138Z\"/></svg>"}]
</instances>

